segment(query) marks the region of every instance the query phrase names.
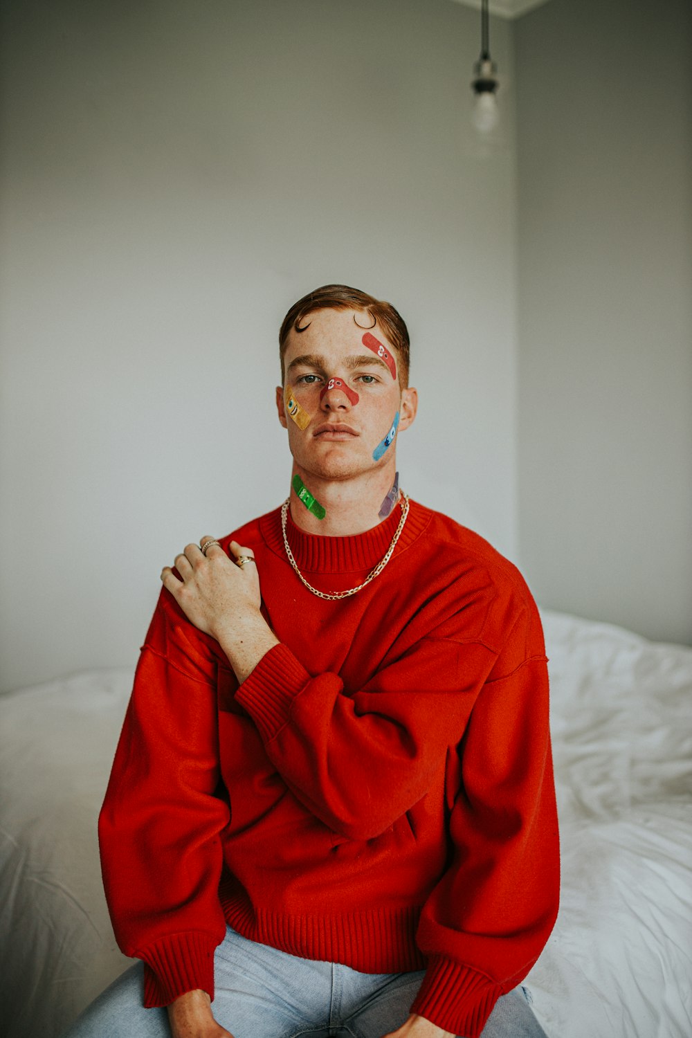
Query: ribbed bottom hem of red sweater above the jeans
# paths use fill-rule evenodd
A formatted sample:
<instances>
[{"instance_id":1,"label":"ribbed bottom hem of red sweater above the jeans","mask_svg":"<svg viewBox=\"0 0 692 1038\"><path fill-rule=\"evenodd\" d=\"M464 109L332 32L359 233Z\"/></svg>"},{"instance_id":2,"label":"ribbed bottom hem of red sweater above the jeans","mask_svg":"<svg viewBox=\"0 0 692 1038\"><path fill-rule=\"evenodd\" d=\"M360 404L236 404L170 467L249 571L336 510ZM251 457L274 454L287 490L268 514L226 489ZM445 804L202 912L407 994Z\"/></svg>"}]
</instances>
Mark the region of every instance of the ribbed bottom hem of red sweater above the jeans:
<instances>
[{"instance_id":1,"label":"ribbed bottom hem of red sweater above the jeans","mask_svg":"<svg viewBox=\"0 0 692 1038\"><path fill-rule=\"evenodd\" d=\"M253 908L245 898L221 892L231 929L288 955L339 962L360 973L410 973L425 967L416 947L417 906L372 908L325 916L294 916Z\"/></svg>"}]
</instances>

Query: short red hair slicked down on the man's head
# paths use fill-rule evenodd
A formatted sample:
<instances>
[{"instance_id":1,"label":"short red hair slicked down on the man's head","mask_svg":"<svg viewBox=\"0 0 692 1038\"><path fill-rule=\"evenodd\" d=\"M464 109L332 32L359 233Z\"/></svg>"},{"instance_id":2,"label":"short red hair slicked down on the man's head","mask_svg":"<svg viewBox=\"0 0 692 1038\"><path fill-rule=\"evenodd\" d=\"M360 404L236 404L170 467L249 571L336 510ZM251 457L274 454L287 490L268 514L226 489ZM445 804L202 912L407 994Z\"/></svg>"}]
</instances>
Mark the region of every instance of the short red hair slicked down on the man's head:
<instances>
[{"instance_id":1,"label":"short red hair slicked down on the man's head","mask_svg":"<svg viewBox=\"0 0 692 1038\"><path fill-rule=\"evenodd\" d=\"M373 322L380 325L387 335L390 346L398 353L398 381L403 389L409 384L409 362L411 343L409 329L404 318L391 303L375 296L368 296L359 289L351 289L348 284L323 284L321 289L309 292L290 307L279 331L279 355L281 357L281 382L283 383L283 356L286 352L286 342L292 331L301 332L307 327L304 324L308 313L315 310L365 310ZM301 327L302 326L302 327Z\"/></svg>"}]
</instances>

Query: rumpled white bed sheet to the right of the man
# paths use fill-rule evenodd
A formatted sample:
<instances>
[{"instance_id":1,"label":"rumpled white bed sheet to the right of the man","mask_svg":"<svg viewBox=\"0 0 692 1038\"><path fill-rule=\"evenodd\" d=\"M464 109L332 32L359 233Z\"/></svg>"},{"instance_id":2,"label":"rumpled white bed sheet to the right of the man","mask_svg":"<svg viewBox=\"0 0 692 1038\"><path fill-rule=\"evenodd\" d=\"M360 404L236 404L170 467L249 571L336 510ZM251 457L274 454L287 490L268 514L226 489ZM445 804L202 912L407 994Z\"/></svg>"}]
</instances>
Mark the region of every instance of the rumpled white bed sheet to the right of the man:
<instances>
[{"instance_id":1,"label":"rumpled white bed sheet to the right of the man","mask_svg":"<svg viewBox=\"0 0 692 1038\"><path fill-rule=\"evenodd\" d=\"M548 1034L692 1035L692 649L544 612L561 831Z\"/></svg>"}]
</instances>

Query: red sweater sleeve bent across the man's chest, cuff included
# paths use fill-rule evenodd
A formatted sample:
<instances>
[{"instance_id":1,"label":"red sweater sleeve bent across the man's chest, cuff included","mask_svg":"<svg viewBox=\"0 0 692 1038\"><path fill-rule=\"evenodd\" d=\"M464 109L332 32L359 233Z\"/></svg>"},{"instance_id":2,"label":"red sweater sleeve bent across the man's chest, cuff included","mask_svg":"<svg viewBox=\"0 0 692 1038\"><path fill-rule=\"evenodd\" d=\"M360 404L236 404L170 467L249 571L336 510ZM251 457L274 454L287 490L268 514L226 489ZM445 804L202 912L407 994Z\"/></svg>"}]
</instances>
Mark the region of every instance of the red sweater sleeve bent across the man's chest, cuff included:
<instances>
[{"instance_id":1,"label":"red sweater sleeve bent across the man's chest, cuff included","mask_svg":"<svg viewBox=\"0 0 692 1038\"><path fill-rule=\"evenodd\" d=\"M337 674L311 676L280 644L236 699L308 811L350 840L371 840L425 795L494 662L481 643L422 638L347 693Z\"/></svg>"}]
</instances>

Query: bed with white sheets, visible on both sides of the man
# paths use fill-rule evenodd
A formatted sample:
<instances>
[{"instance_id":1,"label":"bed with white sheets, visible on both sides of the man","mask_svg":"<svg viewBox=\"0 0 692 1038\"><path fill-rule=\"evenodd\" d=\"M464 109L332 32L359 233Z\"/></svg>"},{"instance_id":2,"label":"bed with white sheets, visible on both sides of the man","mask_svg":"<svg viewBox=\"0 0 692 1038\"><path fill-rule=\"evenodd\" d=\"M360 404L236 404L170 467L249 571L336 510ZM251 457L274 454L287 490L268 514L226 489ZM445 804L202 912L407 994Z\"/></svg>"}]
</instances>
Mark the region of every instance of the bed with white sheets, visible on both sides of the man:
<instances>
[{"instance_id":1,"label":"bed with white sheets, visible on both sides of the man","mask_svg":"<svg viewBox=\"0 0 692 1038\"><path fill-rule=\"evenodd\" d=\"M562 898L525 981L549 1038L692 1035L692 649L544 610ZM130 961L95 820L132 683L0 696L0 1021L53 1038Z\"/></svg>"}]
</instances>

